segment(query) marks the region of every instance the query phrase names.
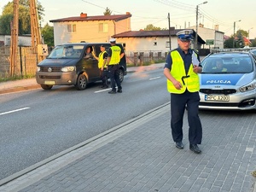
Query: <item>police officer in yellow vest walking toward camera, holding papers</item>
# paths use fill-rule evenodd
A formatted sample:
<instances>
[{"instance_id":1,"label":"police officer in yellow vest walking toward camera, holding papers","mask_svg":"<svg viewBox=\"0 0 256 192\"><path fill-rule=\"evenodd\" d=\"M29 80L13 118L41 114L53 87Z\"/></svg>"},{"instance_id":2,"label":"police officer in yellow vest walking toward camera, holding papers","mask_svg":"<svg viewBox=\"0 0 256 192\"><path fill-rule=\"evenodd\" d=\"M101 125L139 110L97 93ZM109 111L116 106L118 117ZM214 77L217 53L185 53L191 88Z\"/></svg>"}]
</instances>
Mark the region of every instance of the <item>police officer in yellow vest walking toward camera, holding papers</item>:
<instances>
[{"instance_id":1,"label":"police officer in yellow vest walking toward camera, holding papers","mask_svg":"<svg viewBox=\"0 0 256 192\"><path fill-rule=\"evenodd\" d=\"M188 110L189 149L200 154L202 127L198 115L200 102L201 73L199 55L195 49L190 49L192 30L177 32L177 49L171 50L166 56L164 74L167 79L167 90L171 93L171 128L172 138L176 147L183 149L183 114Z\"/></svg>"}]
</instances>

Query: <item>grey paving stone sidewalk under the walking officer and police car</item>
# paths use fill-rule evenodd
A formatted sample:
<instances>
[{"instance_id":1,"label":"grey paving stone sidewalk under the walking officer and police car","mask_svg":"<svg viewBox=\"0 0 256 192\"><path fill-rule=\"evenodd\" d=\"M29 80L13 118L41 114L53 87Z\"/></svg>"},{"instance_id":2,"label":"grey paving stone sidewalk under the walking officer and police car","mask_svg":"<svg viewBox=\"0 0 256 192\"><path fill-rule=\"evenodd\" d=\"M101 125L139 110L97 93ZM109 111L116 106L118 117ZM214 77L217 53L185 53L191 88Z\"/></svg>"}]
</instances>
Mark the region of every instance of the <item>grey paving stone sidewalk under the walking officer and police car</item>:
<instances>
[{"instance_id":1,"label":"grey paving stone sidewalk under the walking officer and police car","mask_svg":"<svg viewBox=\"0 0 256 192\"><path fill-rule=\"evenodd\" d=\"M0 191L253 192L256 165L254 113L201 112L202 154L175 148L170 103L108 131Z\"/></svg>"}]
</instances>

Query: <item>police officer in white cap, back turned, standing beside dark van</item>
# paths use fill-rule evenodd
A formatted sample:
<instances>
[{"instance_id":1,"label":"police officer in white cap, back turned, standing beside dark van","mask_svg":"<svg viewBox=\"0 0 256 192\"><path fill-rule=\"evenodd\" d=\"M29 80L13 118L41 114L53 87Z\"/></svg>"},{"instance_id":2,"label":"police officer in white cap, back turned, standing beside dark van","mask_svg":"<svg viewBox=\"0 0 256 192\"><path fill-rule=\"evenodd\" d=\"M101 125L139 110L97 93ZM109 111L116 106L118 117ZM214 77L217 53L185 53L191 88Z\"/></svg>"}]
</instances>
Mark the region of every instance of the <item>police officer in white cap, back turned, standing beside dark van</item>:
<instances>
[{"instance_id":1,"label":"police officer in white cap, back turned, standing beside dark van","mask_svg":"<svg viewBox=\"0 0 256 192\"><path fill-rule=\"evenodd\" d=\"M116 39L111 38L109 40L111 47L108 51L108 59L107 59L107 66L108 66L108 77L111 80L111 87L112 90L109 91L109 94L116 93L115 84L117 84L118 92L122 92L121 82L119 79L119 61L125 55L124 49L121 49L119 46L115 44Z\"/></svg>"}]
</instances>

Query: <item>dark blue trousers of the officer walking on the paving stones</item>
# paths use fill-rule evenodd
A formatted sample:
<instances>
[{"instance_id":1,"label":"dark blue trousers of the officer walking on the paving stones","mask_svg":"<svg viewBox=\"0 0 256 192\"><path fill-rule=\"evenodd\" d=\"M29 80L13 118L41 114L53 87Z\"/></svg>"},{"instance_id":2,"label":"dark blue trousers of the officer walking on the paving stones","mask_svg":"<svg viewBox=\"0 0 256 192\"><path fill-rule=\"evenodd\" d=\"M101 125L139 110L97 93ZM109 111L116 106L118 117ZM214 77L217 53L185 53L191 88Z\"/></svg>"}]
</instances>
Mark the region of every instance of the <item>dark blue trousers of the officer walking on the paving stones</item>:
<instances>
[{"instance_id":1,"label":"dark blue trousers of the officer walking on the paving stones","mask_svg":"<svg viewBox=\"0 0 256 192\"><path fill-rule=\"evenodd\" d=\"M186 90L183 94L171 93L171 128L174 142L183 140L183 115L185 107L188 109L189 143L201 144L202 127L198 116L200 96L198 92Z\"/></svg>"}]
</instances>

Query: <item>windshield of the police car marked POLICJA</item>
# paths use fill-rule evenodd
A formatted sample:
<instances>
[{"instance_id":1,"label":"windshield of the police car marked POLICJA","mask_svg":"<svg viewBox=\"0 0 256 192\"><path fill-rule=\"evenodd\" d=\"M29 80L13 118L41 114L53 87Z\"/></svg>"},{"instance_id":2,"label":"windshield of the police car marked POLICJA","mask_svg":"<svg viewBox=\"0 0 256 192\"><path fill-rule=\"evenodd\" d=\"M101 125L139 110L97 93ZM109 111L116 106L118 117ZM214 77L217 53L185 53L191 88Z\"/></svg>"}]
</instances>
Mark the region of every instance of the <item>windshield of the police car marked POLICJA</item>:
<instances>
[{"instance_id":1,"label":"windshield of the police car marked POLICJA","mask_svg":"<svg viewBox=\"0 0 256 192\"><path fill-rule=\"evenodd\" d=\"M201 62L202 73L251 73L253 61L248 55L210 55Z\"/></svg>"}]
</instances>

